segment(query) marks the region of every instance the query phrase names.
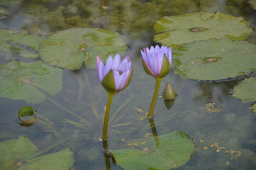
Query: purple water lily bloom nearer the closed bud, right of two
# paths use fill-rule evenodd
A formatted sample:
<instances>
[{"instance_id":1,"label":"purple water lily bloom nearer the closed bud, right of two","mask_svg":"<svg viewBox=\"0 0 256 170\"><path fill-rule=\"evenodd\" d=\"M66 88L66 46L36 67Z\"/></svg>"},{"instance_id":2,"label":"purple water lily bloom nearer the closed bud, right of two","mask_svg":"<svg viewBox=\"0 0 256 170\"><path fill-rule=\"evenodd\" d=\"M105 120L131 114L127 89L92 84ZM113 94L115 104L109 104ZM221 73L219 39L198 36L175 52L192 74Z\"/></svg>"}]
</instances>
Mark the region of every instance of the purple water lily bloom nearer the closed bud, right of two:
<instances>
[{"instance_id":1,"label":"purple water lily bloom nearer the closed bud, right of two","mask_svg":"<svg viewBox=\"0 0 256 170\"><path fill-rule=\"evenodd\" d=\"M156 45L151 46L150 50L144 48L140 51L145 72L155 78L163 78L171 69L171 48Z\"/></svg>"}]
</instances>

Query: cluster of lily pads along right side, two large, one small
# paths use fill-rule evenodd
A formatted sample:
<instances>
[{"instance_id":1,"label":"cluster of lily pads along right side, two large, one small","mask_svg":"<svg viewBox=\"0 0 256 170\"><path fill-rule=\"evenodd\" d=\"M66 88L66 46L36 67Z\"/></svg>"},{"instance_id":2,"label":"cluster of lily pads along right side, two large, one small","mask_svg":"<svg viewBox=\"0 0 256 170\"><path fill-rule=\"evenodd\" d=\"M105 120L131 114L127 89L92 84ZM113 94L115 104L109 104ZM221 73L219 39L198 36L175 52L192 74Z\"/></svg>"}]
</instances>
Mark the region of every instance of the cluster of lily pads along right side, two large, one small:
<instances>
[{"instance_id":1,"label":"cluster of lily pads along right side, two large, one small","mask_svg":"<svg viewBox=\"0 0 256 170\"><path fill-rule=\"evenodd\" d=\"M229 80L256 70L256 44L247 41L248 36L254 34L253 29L242 17L219 11L196 12L162 17L154 29L159 33L154 40L173 48L174 73L184 78ZM256 102L255 79L245 79L239 85L244 87L245 93L238 86L233 96L243 102ZM255 111L255 105L252 109Z\"/></svg>"}]
</instances>

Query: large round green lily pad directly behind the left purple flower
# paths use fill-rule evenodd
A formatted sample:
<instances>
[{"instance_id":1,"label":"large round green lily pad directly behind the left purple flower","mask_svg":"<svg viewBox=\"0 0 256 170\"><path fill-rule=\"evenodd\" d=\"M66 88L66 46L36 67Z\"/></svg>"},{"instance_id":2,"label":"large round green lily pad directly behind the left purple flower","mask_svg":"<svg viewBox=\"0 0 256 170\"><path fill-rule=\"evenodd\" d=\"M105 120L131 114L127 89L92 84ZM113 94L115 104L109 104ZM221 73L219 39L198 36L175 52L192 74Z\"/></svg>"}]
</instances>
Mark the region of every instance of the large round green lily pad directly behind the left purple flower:
<instances>
[{"instance_id":1,"label":"large round green lily pad directly behind the left purple flower","mask_svg":"<svg viewBox=\"0 0 256 170\"><path fill-rule=\"evenodd\" d=\"M45 62L61 68L96 67L96 54L106 60L109 55L122 55L126 44L118 33L98 28L71 28L50 35L40 44L39 55Z\"/></svg>"}]
</instances>

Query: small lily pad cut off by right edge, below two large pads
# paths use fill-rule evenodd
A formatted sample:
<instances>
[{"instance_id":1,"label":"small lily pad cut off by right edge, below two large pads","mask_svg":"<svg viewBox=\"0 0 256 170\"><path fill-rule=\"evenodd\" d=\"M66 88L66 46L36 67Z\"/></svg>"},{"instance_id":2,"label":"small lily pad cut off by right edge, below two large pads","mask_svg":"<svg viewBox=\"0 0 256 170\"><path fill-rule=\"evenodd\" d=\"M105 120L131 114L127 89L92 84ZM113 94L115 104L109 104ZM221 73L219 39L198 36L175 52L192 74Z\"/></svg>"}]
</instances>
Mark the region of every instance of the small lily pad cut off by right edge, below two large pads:
<instances>
[{"instance_id":1,"label":"small lily pad cut off by right edge, below two large pads","mask_svg":"<svg viewBox=\"0 0 256 170\"><path fill-rule=\"evenodd\" d=\"M233 97L241 99L243 102L256 102L256 78L246 78L235 86ZM256 104L251 109L256 112Z\"/></svg>"}]
</instances>

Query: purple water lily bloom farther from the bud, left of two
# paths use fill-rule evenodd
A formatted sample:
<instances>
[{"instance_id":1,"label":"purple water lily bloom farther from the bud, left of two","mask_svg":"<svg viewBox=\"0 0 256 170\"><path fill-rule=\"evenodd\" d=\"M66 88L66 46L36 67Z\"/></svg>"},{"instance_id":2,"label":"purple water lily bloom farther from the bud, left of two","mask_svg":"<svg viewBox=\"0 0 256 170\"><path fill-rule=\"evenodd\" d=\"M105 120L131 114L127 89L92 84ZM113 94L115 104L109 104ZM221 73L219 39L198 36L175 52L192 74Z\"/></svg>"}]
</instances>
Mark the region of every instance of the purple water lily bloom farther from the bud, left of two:
<instances>
[{"instance_id":1,"label":"purple water lily bloom farther from the bud, left of two","mask_svg":"<svg viewBox=\"0 0 256 170\"><path fill-rule=\"evenodd\" d=\"M116 94L130 83L133 69L130 69L131 62L129 55L122 62L119 53L114 59L110 55L106 60L105 66L98 55L96 58L98 79L108 93Z\"/></svg>"}]
</instances>

